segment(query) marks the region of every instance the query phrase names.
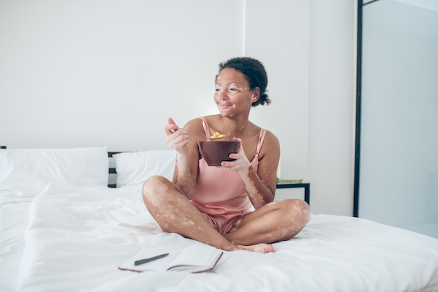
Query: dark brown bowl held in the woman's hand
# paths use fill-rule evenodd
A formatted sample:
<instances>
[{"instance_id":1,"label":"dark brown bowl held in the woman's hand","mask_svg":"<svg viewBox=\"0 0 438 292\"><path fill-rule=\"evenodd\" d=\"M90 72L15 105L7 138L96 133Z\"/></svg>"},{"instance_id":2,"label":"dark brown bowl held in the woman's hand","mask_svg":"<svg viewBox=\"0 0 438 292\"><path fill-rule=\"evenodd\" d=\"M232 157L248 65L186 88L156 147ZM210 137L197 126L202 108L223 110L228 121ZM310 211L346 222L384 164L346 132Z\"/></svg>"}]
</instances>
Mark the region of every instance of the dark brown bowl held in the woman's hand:
<instances>
[{"instance_id":1,"label":"dark brown bowl held in the woman's hand","mask_svg":"<svg viewBox=\"0 0 438 292\"><path fill-rule=\"evenodd\" d=\"M240 141L199 141L198 146L207 165L220 166L222 161L234 160L228 155L239 150Z\"/></svg>"}]
</instances>

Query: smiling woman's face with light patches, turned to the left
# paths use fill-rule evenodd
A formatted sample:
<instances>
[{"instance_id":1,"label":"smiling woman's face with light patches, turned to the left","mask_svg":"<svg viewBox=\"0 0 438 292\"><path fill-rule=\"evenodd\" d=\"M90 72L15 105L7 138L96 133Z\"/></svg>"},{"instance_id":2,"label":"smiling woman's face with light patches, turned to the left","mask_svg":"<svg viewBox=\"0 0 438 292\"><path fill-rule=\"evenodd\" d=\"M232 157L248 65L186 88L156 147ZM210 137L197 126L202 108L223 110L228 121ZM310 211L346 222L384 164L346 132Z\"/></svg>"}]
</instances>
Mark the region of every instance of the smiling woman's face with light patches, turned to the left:
<instances>
[{"instance_id":1,"label":"smiling woman's face with light patches, turned to the left","mask_svg":"<svg viewBox=\"0 0 438 292\"><path fill-rule=\"evenodd\" d=\"M216 78L214 100L222 116L232 117L250 111L259 97L259 88L250 90L245 76L231 68L222 69Z\"/></svg>"}]
</instances>

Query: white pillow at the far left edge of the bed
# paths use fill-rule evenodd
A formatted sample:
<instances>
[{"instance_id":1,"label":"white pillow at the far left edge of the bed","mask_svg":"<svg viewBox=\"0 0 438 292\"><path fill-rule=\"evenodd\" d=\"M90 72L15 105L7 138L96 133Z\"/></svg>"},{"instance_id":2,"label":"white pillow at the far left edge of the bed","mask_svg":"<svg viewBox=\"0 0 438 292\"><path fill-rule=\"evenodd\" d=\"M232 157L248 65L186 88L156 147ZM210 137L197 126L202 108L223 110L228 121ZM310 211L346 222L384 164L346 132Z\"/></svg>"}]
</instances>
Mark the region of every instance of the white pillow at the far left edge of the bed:
<instances>
[{"instance_id":1,"label":"white pillow at the far left edge of the bed","mask_svg":"<svg viewBox=\"0 0 438 292\"><path fill-rule=\"evenodd\" d=\"M106 147L0 150L0 190L35 197L48 183L106 186Z\"/></svg>"}]
</instances>

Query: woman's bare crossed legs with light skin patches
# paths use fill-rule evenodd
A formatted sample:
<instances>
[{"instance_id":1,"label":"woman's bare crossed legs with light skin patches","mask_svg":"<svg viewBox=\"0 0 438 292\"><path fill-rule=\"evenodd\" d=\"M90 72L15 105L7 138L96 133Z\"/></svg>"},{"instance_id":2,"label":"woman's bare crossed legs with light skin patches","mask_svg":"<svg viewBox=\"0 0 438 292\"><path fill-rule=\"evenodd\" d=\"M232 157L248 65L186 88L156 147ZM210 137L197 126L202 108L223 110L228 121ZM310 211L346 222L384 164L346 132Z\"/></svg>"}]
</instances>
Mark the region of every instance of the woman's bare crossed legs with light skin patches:
<instances>
[{"instance_id":1,"label":"woman's bare crossed legs with light skin patches","mask_svg":"<svg viewBox=\"0 0 438 292\"><path fill-rule=\"evenodd\" d=\"M302 219L300 222L305 221L305 223L301 227L297 225L290 228L288 223L284 222L290 222L284 220L285 212L291 209L289 205L294 204L272 202L243 216L224 237L205 220L201 212L181 193L178 186L162 176L153 176L143 184L143 202L164 231L176 232L225 251L239 249L261 253L274 251L267 242L276 242L294 236L310 217L310 211L302 211L306 214L306 220ZM304 209L303 207L302 210ZM279 230L284 226L287 231L280 232Z\"/></svg>"}]
</instances>

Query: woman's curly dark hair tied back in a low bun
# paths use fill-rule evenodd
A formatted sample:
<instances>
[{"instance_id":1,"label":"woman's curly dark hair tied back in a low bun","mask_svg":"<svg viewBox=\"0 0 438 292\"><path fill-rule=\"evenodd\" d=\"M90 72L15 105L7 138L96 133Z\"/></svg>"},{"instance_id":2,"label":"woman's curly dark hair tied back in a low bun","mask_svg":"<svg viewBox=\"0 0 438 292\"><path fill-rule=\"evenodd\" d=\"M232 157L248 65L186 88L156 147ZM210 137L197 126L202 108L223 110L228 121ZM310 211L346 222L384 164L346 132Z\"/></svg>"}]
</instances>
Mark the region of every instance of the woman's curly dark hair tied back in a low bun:
<instances>
[{"instance_id":1,"label":"woman's curly dark hair tied back in a low bun","mask_svg":"<svg viewBox=\"0 0 438 292\"><path fill-rule=\"evenodd\" d=\"M260 88L260 97L252 106L270 104L271 99L267 95L268 76L262 62L251 57L234 57L219 64L219 72L225 68L240 71L249 83L250 90ZM218 75L216 75L216 79Z\"/></svg>"}]
</instances>

